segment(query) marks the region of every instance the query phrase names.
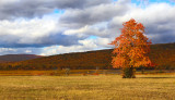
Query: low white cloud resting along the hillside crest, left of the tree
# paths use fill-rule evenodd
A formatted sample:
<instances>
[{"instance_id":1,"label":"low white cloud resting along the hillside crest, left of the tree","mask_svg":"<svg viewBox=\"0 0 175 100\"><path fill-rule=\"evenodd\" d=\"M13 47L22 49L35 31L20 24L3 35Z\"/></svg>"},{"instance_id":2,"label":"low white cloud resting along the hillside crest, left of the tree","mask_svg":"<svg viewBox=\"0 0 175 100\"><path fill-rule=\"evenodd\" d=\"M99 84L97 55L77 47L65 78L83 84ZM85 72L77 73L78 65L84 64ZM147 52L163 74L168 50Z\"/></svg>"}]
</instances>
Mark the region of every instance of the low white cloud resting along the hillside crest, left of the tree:
<instances>
[{"instance_id":1,"label":"low white cloud resting along the hillside crest, left of the tree","mask_svg":"<svg viewBox=\"0 0 175 100\"><path fill-rule=\"evenodd\" d=\"M90 50L100 50L107 49L112 46L110 39L108 38L97 38L97 39L85 39L79 40L81 45L65 47L65 46L51 46L43 49L40 55L51 55L59 53L69 53L69 52L84 52Z\"/></svg>"}]
</instances>

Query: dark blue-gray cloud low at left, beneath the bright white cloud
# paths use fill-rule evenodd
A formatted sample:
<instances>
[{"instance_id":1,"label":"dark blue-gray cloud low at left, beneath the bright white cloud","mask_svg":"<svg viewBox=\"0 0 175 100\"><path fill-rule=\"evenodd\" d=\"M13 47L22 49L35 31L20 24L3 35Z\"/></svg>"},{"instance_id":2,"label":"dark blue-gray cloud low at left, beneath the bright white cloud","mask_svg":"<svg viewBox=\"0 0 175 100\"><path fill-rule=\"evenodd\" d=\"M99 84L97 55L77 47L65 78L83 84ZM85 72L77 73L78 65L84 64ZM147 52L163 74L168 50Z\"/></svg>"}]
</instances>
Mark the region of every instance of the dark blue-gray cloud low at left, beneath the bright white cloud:
<instances>
[{"instance_id":1,"label":"dark blue-gray cloud low at left, beneath the bright white cloud","mask_svg":"<svg viewBox=\"0 0 175 100\"><path fill-rule=\"evenodd\" d=\"M72 45L79 45L78 40L84 39L84 38L78 38L77 36L67 36L59 34L50 34L48 36L43 36L39 38L31 38L26 39L25 42L22 42L21 37L16 35L3 35L0 39L0 47L1 48L27 48L27 47L34 47L34 48L40 48L40 47L48 47L54 45L61 45L61 46L72 46Z\"/></svg>"}]
</instances>

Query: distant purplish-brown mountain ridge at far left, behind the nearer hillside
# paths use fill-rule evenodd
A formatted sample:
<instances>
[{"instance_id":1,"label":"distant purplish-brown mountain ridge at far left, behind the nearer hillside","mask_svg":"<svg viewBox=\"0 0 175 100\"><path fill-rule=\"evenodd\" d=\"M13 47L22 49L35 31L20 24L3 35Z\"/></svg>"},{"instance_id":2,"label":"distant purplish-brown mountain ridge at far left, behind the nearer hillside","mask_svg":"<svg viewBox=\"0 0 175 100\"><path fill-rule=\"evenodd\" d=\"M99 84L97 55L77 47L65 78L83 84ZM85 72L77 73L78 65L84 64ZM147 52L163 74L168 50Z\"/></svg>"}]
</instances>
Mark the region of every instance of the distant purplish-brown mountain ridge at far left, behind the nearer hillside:
<instances>
[{"instance_id":1,"label":"distant purplish-brown mountain ridge at far left, behind the nearer hillside","mask_svg":"<svg viewBox=\"0 0 175 100\"><path fill-rule=\"evenodd\" d=\"M37 58L42 58L42 55L35 55L35 54L5 54L5 55L0 55L0 63L26 61L26 60L37 59Z\"/></svg>"}]
</instances>

